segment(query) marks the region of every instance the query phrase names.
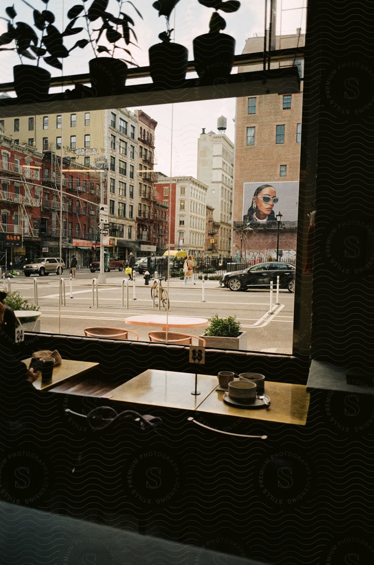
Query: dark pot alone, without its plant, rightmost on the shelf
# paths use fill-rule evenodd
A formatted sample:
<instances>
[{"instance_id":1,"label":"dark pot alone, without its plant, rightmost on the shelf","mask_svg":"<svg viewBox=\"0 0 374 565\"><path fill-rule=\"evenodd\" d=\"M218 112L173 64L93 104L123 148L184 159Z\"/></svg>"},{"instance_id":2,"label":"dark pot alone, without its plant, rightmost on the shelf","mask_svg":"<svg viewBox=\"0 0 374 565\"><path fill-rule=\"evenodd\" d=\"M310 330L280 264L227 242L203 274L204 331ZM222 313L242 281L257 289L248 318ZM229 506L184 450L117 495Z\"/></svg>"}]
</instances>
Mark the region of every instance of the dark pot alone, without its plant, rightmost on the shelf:
<instances>
[{"instance_id":1,"label":"dark pot alone, without its plant, rightmost on the shelf","mask_svg":"<svg viewBox=\"0 0 374 565\"><path fill-rule=\"evenodd\" d=\"M192 45L201 84L212 83L218 78L227 79L234 64L234 37L219 32L204 33L195 37Z\"/></svg>"}]
</instances>

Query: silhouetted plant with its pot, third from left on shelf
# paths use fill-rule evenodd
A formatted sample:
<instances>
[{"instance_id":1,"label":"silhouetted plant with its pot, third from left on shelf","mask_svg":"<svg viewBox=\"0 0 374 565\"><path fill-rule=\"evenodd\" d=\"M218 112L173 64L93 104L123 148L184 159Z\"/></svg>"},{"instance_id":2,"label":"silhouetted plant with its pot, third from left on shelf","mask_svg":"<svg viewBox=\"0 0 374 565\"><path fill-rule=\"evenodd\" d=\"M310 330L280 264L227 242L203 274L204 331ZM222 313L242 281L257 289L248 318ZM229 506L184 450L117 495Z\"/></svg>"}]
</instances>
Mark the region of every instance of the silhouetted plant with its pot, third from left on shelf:
<instances>
[{"instance_id":1,"label":"silhouetted plant with its pot, third from left on shelf","mask_svg":"<svg viewBox=\"0 0 374 565\"><path fill-rule=\"evenodd\" d=\"M188 66L188 49L184 45L170 41L170 14L179 0L162 2L157 0L152 4L159 11L159 16L166 18L166 32L159 34L161 43L149 47L149 73L153 83L164 88L178 88L186 79Z\"/></svg>"}]
</instances>

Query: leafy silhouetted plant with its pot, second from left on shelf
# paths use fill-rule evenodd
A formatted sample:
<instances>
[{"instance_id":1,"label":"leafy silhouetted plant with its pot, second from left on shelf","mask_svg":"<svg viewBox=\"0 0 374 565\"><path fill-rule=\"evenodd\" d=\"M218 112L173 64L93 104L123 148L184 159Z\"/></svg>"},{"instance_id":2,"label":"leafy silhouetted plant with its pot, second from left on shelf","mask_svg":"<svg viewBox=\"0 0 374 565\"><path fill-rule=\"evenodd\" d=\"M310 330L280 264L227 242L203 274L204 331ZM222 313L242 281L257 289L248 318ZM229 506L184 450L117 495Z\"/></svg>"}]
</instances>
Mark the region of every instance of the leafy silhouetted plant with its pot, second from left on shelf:
<instances>
[{"instance_id":1,"label":"leafy silhouetted plant with its pot, second from left on shelf","mask_svg":"<svg viewBox=\"0 0 374 565\"><path fill-rule=\"evenodd\" d=\"M131 41L131 34L137 41L137 36L131 27L134 25L134 20L122 11L126 2L130 3L138 16L142 18L142 15L130 0L117 0L118 16L108 11L109 0L93 0L90 7L86 6L86 0L81 0L81 4L73 6L67 14L68 19L71 20L69 25L72 29L81 31L82 28L73 28L73 25L78 18L85 19L89 38L78 41L75 46L85 47L91 44L95 57L89 61L90 79L95 94L98 96L120 94L127 79L126 63L136 65L129 49L120 44L120 42L124 42L126 46L134 45ZM93 24L99 27L93 29ZM103 37L105 37L107 45L99 43ZM124 51L130 56L130 59L115 58L116 49Z\"/></svg>"}]
</instances>

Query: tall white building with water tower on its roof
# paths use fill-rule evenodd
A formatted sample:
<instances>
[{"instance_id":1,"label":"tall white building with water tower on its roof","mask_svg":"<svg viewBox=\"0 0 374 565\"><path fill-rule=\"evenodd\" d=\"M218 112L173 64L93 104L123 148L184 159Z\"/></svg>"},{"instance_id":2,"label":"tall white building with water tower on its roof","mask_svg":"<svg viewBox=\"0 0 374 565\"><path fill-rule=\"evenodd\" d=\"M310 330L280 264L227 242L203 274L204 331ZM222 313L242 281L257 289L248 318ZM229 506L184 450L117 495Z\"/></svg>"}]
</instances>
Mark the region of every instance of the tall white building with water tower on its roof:
<instances>
[{"instance_id":1,"label":"tall white building with water tower on its roof","mask_svg":"<svg viewBox=\"0 0 374 565\"><path fill-rule=\"evenodd\" d=\"M231 255L232 190L234 181L234 144L226 136L226 118L217 120L219 133L205 133L197 140L197 179L208 186L206 203L214 208L219 223L216 254Z\"/></svg>"}]
</instances>

